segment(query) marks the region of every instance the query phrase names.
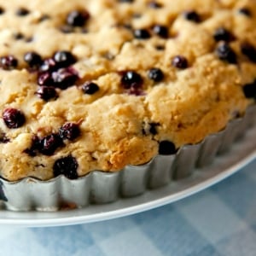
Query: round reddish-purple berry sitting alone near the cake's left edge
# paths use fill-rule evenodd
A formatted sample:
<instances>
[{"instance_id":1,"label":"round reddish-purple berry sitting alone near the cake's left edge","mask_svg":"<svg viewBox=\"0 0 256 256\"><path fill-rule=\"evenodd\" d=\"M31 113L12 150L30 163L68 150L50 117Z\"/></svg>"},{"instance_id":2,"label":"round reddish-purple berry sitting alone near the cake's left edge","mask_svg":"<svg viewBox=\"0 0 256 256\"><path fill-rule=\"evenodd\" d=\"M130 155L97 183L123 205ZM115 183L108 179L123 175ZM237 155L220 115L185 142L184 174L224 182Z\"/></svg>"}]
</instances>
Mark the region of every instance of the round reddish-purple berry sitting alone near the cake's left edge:
<instances>
[{"instance_id":1,"label":"round reddish-purple berry sitting alone near the cake's left edge","mask_svg":"<svg viewBox=\"0 0 256 256\"><path fill-rule=\"evenodd\" d=\"M6 108L3 111L3 121L8 128L19 128L26 119L24 113L16 108Z\"/></svg>"}]
</instances>

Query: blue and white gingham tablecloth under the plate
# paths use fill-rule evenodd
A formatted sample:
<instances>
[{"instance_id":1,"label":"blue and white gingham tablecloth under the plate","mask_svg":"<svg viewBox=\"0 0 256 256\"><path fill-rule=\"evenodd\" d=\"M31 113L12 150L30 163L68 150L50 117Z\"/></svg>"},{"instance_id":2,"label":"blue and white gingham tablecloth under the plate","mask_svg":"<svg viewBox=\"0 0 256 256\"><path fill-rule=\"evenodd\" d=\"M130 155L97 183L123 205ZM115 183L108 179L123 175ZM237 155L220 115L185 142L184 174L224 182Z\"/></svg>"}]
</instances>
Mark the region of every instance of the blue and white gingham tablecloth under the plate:
<instances>
[{"instance_id":1,"label":"blue and white gingham tablecloth under the plate","mask_svg":"<svg viewBox=\"0 0 256 256\"><path fill-rule=\"evenodd\" d=\"M210 189L101 223L0 229L2 256L255 256L256 160Z\"/></svg>"}]
</instances>

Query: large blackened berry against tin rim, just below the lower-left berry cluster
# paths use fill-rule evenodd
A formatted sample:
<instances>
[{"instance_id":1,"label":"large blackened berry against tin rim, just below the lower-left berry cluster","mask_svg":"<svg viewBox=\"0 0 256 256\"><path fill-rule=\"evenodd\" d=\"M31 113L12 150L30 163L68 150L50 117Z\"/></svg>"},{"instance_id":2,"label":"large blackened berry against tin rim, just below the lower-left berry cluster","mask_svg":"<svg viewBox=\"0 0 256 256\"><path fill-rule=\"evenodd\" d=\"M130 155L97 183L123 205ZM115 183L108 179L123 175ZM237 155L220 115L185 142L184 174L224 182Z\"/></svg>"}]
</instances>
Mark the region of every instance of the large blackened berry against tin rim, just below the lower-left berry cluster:
<instances>
[{"instance_id":1,"label":"large blackened berry against tin rim, just below the lower-left berry cluster","mask_svg":"<svg viewBox=\"0 0 256 256\"><path fill-rule=\"evenodd\" d=\"M79 177L77 172L78 167L79 164L72 155L62 157L55 160L55 164L53 166L54 176L57 177L62 174L69 179L76 179Z\"/></svg>"}]
</instances>

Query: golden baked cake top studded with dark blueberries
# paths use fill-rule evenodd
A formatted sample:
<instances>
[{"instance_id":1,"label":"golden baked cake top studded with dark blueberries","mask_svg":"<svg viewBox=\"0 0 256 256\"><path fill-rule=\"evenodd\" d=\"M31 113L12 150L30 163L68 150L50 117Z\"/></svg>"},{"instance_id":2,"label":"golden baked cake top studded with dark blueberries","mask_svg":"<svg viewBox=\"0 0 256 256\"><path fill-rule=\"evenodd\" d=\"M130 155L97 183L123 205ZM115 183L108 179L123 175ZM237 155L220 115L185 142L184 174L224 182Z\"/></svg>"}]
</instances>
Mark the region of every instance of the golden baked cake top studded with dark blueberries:
<instances>
[{"instance_id":1,"label":"golden baked cake top studded with dark blueberries","mask_svg":"<svg viewBox=\"0 0 256 256\"><path fill-rule=\"evenodd\" d=\"M0 169L118 171L256 98L254 0L0 0Z\"/></svg>"}]
</instances>

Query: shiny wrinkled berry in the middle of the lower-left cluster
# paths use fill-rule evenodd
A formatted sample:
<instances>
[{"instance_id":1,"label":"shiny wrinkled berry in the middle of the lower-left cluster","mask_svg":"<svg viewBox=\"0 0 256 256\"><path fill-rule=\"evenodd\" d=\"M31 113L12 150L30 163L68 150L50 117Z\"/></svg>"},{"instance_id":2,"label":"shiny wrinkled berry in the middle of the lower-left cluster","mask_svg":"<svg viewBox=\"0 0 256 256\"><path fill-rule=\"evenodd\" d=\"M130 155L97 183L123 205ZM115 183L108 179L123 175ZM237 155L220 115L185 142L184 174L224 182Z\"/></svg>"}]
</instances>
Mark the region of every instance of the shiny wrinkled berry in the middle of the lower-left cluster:
<instances>
[{"instance_id":1,"label":"shiny wrinkled berry in the middle of the lower-left cluster","mask_svg":"<svg viewBox=\"0 0 256 256\"><path fill-rule=\"evenodd\" d=\"M50 134L40 140L38 150L45 155L52 155L57 148L63 145L62 139L58 134Z\"/></svg>"}]
</instances>

